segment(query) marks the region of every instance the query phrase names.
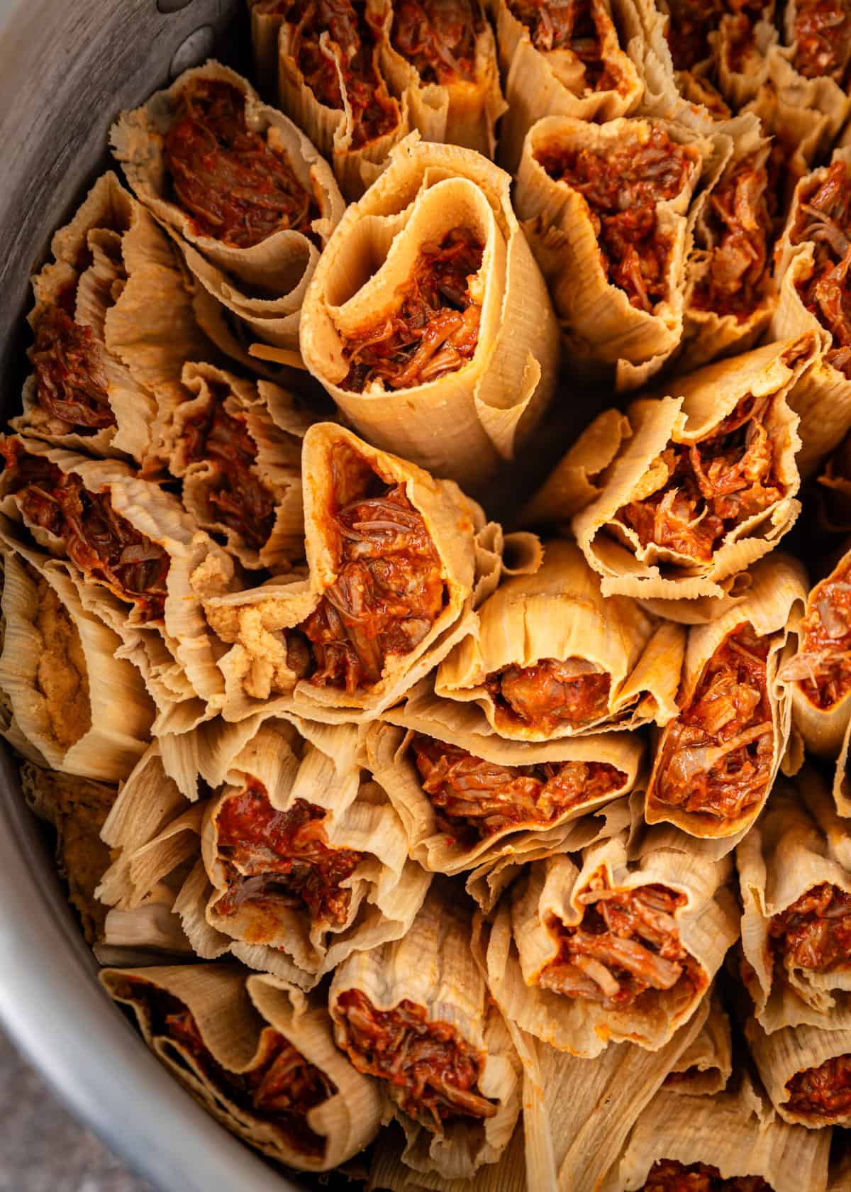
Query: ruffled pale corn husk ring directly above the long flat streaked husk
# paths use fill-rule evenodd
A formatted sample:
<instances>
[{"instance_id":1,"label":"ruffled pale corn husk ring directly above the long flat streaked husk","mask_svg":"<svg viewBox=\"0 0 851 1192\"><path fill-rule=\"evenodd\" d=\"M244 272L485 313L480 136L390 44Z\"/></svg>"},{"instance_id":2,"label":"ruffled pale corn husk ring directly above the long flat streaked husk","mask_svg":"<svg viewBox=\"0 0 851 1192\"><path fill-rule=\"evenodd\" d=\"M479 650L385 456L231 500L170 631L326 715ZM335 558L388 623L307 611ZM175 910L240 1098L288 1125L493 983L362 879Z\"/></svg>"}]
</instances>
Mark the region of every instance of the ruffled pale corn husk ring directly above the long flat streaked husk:
<instances>
[{"instance_id":1,"label":"ruffled pale corn husk ring directly above the long flat streaked husk","mask_svg":"<svg viewBox=\"0 0 851 1192\"><path fill-rule=\"evenodd\" d=\"M505 1018L582 1058L598 1056L610 1043L638 1043L648 1051L665 1047L694 1016L739 933L738 908L725 887L729 871L728 861L706 859L682 846L646 846L631 861L626 833L583 850L577 862L566 853L535 862L498 907L490 931L487 983ZM554 924L579 926L586 912L583 898L601 881L604 890L660 884L684 895L670 927L685 954L675 966L679 973L666 973L666 986L651 986L648 980L645 988L653 988L652 998L642 997L638 1004L633 999L622 1008L604 1005L622 983L608 969L608 993L600 983L605 974L597 979L590 968L586 974L589 994L596 989L600 1002L558 992L547 973L561 951ZM594 971L598 969L597 964Z\"/></svg>"}]
</instances>

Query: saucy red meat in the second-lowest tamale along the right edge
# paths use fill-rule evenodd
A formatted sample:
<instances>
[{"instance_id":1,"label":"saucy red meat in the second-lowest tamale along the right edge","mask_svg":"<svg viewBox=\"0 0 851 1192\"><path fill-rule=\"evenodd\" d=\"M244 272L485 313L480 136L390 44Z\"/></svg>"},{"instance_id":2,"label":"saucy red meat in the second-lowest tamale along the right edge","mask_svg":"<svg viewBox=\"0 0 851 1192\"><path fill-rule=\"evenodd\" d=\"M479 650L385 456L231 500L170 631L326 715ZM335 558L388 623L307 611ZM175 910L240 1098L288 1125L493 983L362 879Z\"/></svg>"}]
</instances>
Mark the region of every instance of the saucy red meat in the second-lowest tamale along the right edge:
<instances>
[{"instance_id":1,"label":"saucy red meat in the second-lowest tamale along the right edge","mask_svg":"<svg viewBox=\"0 0 851 1192\"><path fill-rule=\"evenodd\" d=\"M769 936L787 968L827 973L851 964L851 894L822 882L774 915Z\"/></svg>"}]
</instances>

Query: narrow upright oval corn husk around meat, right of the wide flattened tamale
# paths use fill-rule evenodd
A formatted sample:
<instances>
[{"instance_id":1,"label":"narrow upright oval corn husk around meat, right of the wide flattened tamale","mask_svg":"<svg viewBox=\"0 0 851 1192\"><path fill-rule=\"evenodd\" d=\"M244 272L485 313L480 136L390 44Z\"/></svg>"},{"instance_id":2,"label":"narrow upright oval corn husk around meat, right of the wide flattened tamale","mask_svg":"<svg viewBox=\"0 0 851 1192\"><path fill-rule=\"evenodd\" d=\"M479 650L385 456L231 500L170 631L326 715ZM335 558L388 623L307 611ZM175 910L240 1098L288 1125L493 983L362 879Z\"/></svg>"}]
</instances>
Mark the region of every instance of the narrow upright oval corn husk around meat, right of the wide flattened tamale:
<instances>
[{"instance_id":1,"label":"narrow upright oval corn husk around meat, right of the wide flattened tamale","mask_svg":"<svg viewBox=\"0 0 851 1192\"><path fill-rule=\"evenodd\" d=\"M781 678L781 669L794 650L803 611L806 576L796 559L778 553L771 559L758 563L751 577L752 586L740 602L728 608L715 621L695 626L689 632L679 703L683 708L691 704L706 664L734 629L741 625L751 625L757 637L771 634L766 660L766 690L774 724L774 760L763 796L758 803L733 819L720 819L708 812L689 812L661 802L656 795L654 787L664 757L666 734L677 722L673 720L663 731L658 743L645 802L647 824L672 824L691 837L716 840L720 852L727 852L738 844L765 806L791 731L791 691L789 684Z\"/></svg>"}]
</instances>

